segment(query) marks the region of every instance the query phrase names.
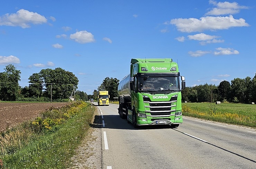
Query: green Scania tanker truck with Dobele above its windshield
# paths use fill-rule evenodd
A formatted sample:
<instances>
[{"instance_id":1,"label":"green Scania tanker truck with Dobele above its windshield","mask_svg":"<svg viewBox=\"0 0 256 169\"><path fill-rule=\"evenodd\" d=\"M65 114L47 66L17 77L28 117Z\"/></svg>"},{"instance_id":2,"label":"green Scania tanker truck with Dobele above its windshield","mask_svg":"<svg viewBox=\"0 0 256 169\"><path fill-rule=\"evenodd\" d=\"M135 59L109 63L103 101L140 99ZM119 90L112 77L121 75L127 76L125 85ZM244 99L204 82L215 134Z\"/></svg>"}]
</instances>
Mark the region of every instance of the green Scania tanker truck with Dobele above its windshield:
<instances>
[{"instance_id":1,"label":"green Scania tanker truck with Dobele above its windshield","mask_svg":"<svg viewBox=\"0 0 256 169\"><path fill-rule=\"evenodd\" d=\"M185 77L171 58L131 59L130 74L118 85L122 119L139 125L182 124L181 90Z\"/></svg>"}]
</instances>

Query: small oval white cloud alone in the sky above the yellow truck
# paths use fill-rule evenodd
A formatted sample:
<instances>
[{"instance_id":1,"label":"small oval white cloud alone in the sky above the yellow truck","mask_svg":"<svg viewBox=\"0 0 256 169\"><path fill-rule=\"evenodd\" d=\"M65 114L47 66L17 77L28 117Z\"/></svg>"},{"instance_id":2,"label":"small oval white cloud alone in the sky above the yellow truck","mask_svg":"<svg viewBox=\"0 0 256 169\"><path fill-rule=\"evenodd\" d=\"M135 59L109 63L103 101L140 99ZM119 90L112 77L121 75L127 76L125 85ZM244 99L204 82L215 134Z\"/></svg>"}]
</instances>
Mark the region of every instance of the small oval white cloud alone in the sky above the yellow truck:
<instances>
[{"instance_id":1,"label":"small oval white cloud alone in the sky above the yellow truck","mask_svg":"<svg viewBox=\"0 0 256 169\"><path fill-rule=\"evenodd\" d=\"M71 34L70 38L74 39L76 42L80 44L91 43L95 41L94 36L86 30L76 32L75 34Z\"/></svg>"}]
</instances>

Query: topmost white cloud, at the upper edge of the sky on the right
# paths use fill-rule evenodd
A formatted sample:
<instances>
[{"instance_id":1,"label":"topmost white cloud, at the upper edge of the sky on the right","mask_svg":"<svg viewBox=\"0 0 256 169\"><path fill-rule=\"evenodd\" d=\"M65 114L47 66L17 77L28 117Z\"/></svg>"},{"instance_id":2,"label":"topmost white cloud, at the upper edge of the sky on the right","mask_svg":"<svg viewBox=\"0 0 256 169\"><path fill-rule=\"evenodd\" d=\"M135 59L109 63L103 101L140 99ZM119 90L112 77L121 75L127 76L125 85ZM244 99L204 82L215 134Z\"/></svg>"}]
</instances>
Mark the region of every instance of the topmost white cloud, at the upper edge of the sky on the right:
<instances>
[{"instance_id":1,"label":"topmost white cloud, at the upper edge of the sky on the right","mask_svg":"<svg viewBox=\"0 0 256 169\"><path fill-rule=\"evenodd\" d=\"M216 1L209 1L210 4L216 6L209 12L205 13L205 15L226 15L226 14L235 14L239 13L240 9L248 9L247 6L240 6L237 2L216 2Z\"/></svg>"}]
</instances>

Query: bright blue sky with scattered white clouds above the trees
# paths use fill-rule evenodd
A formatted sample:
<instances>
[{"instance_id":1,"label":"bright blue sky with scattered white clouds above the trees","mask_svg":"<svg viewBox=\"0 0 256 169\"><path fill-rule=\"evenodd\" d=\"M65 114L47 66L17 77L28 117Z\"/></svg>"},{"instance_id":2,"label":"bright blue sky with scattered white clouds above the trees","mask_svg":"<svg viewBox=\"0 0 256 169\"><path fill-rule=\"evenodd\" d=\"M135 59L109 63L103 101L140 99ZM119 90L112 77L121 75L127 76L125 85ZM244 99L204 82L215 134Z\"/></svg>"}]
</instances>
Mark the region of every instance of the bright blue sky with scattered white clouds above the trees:
<instances>
[{"instance_id":1,"label":"bright blue sky with scattered white clouds above the trees","mask_svg":"<svg viewBox=\"0 0 256 169\"><path fill-rule=\"evenodd\" d=\"M0 72L12 64L19 85L42 69L61 67L97 90L121 80L131 58L172 58L186 86L256 73L256 1L3 0Z\"/></svg>"}]
</instances>

